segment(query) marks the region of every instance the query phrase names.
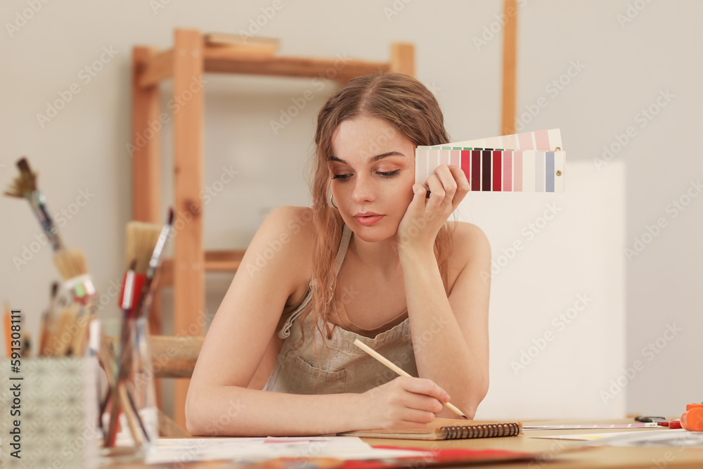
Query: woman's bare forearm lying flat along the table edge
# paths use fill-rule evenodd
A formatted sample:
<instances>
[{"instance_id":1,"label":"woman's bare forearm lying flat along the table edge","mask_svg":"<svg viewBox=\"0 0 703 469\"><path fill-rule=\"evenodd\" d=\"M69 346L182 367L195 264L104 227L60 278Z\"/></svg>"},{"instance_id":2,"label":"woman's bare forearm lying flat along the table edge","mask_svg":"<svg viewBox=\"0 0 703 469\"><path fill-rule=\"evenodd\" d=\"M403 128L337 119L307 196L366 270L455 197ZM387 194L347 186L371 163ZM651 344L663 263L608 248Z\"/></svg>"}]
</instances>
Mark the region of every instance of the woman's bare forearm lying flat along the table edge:
<instances>
[{"instance_id":1,"label":"woman's bare forearm lying flat along the table edge","mask_svg":"<svg viewBox=\"0 0 703 469\"><path fill-rule=\"evenodd\" d=\"M193 394L191 395L191 392ZM326 435L363 427L361 394L286 394L219 386L186 401L186 426L202 436Z\"/></svg>"}]
</instances>

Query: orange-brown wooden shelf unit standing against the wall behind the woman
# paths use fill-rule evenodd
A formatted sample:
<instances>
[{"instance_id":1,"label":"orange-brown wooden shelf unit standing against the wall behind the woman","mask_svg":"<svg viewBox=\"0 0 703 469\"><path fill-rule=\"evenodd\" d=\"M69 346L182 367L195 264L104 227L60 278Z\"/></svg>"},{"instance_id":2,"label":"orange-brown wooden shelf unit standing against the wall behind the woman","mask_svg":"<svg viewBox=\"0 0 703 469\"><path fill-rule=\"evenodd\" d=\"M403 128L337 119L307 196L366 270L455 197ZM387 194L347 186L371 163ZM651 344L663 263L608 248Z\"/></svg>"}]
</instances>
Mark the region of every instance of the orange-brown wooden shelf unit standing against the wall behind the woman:
<instances>
[{"instance_id":1,"label":"orange-brown wooden shelf unit standing against the wall behind the woman","mask_svg":"<svg viewBox=\"0 0 703 469\"><path fill-rule=\"evenodd\" d=\"M391 44L388 62L339 58L302 58L245 53L226 46L205 43L198 30L176 29L174 46L166 51L136 46L132 51L132 219L161 224L160 105L159 84L173 79L174 99L182 105L173 113L174 134L174 258L162 264L161 286L174 287L174 331L176 335L202 335L205 316L205 271L236 271L243 250L205 252L202 245L203 102L205 72L273 75L279 77L327 77L344 83L371 73L402 72L415 75L412 44ZM335 66L336 65L336 66ZM196 84L193 89L193 84ZM156 295L149 317L152 334L161 331L160 295ZM195 326L193 326L195 325ZM197 333L193 333L193 331ZM186 428L184 406L189 380L176 380L174 420Z\"/></svg>"}]
</instances>

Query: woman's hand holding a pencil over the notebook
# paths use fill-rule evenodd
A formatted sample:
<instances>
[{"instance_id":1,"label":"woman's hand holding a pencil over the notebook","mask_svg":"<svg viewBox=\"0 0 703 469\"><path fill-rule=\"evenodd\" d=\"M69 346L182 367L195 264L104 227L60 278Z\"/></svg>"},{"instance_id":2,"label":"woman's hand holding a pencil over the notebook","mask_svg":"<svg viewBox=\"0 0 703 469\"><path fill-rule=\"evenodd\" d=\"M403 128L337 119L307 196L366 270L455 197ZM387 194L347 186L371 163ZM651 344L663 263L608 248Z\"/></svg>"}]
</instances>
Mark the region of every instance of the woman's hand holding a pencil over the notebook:
<instances>
[{"instance_id":1,"label":"woman's hand holding a pencil over the notebook","mask_svg":"<svg viewBox=\"0 0 703 469\"><path fill-rule=\"evenodd\" d=\"M360 394L361 428L425 428L449 402L449 394L432 380L399 376Z\"/></svg>"}]
</instances>

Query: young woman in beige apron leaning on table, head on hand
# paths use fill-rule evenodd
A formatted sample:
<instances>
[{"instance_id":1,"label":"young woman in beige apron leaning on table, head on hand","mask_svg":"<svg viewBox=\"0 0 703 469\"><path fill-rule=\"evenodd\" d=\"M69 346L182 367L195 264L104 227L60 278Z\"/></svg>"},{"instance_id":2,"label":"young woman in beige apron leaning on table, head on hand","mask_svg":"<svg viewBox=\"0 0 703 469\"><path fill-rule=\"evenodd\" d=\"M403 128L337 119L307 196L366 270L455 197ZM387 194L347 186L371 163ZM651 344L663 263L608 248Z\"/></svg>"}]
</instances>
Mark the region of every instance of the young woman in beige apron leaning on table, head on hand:
<instances>
[{"instance_id":1,"label":"young woman in beige apron leaning on table, head on hand","mask_svg":"<svg viewBox=\"0 0 703 469\"><path fill-rule=\"evenodd\" d=\"M247 248L186 400L193 435L321 435L472 418L488 390L491 251L447 221L469 184L415 147L449 142L407 75L349 80L318 115L312 207L273 210ZM416 378L398 377L359 338ZM450 397L451 396L451 397Z\"/></svg>"}]
</instances>

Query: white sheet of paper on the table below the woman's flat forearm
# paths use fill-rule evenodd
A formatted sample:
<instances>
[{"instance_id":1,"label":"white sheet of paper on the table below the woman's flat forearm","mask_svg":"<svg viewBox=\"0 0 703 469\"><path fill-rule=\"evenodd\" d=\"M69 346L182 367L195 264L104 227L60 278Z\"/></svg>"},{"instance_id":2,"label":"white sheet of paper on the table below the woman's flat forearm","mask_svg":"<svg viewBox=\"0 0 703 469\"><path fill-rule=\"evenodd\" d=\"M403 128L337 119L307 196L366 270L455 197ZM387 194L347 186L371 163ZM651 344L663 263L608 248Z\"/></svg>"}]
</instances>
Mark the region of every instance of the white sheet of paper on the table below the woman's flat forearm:
<instances>
[{"instance_id":1,"label":"white sheet of paper on the table below the woman's flat forearm","mask_svg":"<svg viewBox=\"0 0 703 469\"><path fill-rule=\"evenodd\" d=\"M187 463L214 459L256 463L271 458L362 460L411 456L431 456L431 453L374 449L358 437L162 438L146 454L146 463Z\"/></svg>"}]
</instances>

